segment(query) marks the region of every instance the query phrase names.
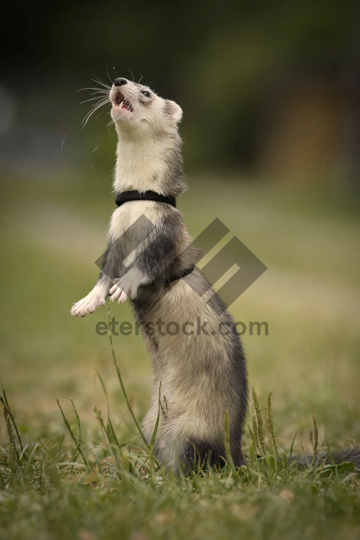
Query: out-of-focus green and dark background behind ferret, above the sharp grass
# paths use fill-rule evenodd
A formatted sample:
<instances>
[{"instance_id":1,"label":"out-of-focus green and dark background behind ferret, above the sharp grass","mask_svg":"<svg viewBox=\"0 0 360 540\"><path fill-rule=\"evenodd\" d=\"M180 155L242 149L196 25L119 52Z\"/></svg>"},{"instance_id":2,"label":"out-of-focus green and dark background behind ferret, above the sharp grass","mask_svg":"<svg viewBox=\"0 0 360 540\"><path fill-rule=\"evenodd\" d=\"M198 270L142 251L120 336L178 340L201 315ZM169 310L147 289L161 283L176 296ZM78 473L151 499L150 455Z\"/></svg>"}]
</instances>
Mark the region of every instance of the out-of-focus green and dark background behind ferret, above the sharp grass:
<instances>
[{"instance_id":1,"label":"out-of-focus green and dark background behind ferret, above the sharp grass","mask_svg":"<svg viewBox=\"0 0 360 540\"><path fill-rule=\"evenodd\" d=\"M95 332L106 308L80 320L69 309L97 279L114 208L109 107L82 129L90 106L79 103L92 96L77 91L96 77L142 76L184 110L189 190L178 206L189 232L218 217L268 267L230 310L235 320L268 322L268 336L243 342L262 403L274 391L280 440L297 430L297 451L300 439L311 451L314 412L322 444L359 442L358 4L90 0L9 9L0 374L22 430L63 429L55 394L71 395L91 430L93 405L103 403L94 368L117 428L130 424L108 338ZM133 320L128 306L111 313ZM114 342L141 417L151 389L144 342ZM0 429L4 440L1 420Z\"/></svg>"}]
</instances>

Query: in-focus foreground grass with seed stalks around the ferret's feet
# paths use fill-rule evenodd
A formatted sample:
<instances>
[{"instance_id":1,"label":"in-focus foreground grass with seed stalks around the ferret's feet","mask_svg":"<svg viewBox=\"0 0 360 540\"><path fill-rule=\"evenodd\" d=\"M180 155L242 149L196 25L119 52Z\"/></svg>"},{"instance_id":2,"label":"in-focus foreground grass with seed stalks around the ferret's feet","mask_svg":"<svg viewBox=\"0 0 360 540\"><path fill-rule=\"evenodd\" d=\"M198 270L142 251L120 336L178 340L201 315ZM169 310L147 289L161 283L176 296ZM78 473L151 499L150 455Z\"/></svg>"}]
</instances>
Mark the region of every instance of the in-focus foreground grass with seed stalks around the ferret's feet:
<instances>
[{"instance_id":1,"label":"in-focus foreground grass with seed stalks around the ferret's feet","mask_svg":"<svg viewBox=\"0 0 360 540\"><path fill-rule=\"evenodd\" d=\"M122 386L115 357L114 364ZM105 386L104 392L107 395ZM3 389L1 401L9 419L5 400ZM33 447L22 447L19 440L18 453L8 420L10 444L0 462L2 538L356 538L360 480L354 464L316 459L315 417L314 457L307 467L299 469L291 460L295 437L289 460L286 452L281 459L271 392L267 446L254 388L253 400L248 463L240 469L232 463L226 411L226 467L207 471L194 456L191 476L180 477L157 463L152 443L139 448L134 440L119 442L109 408L107 425L96 410L100 431L95 440L86 441L86 450L72 400L76 435L57 400L72 445L64 435ZM130 404L129 409L132 413Z\"/></svg>"}]
</instances>

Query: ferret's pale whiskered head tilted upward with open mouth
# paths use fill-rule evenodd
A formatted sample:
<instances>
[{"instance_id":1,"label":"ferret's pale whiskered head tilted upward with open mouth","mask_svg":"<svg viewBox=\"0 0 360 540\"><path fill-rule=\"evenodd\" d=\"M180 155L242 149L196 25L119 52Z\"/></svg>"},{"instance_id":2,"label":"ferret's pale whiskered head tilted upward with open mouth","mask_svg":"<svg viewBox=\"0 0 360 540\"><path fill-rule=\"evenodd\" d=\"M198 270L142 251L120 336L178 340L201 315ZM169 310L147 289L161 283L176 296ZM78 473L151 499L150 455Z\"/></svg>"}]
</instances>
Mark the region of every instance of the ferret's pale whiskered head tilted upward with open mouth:
<instances>
[{"instance_id":1,"label":"ferret's pale whiskered head tilted upward with open mouth","mask_svg":"<svg viewBox=\"0 0 360 540\"><path fill-rule=\"evenodd\" d=\"M148 86L119 77L110 90L111 116L118 132L141 134L177 131L182 110L157 96Z\"/></svg>"}]
</instances>

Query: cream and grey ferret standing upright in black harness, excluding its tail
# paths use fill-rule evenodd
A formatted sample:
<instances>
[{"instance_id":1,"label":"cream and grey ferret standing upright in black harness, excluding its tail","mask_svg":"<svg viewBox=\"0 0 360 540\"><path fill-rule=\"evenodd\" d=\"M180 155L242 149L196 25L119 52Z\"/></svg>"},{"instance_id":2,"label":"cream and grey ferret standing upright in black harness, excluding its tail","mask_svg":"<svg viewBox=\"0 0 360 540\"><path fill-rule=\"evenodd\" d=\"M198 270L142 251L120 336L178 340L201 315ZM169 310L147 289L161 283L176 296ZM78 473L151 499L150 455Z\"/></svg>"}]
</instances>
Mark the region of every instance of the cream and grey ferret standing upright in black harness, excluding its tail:
<instances>
[{"instance_id":1,"label":"cream and grey ferret standing upright in black harness, excluding its tail","mask_svg":"<svg viewBox=\"0 0 360 540\"><path fill-rule=\"evenodd\" d=\"M175 472L183 464L191 469L194 447L201 462L222 464L229 410L230 449L240 467L246 362L230 314L195 268L201 255L175 207L175 198L186 190L178 131L182 110L125 78L115 80L110 100L119 139L113 186L120 206L110 220L97 284L71 314L93 313L106 298L130 300L154 372L152 404L142 424L148 442L158 416L160 383L166 396L155 455ZM166 328L176 321L182 332L171 335L160 326L155 332L152 321L159 320ZM196 331L199 321L206 322L205 332ZM230 329L226 335L219 331L223 325Z\"/></svg>"}]
</instances>

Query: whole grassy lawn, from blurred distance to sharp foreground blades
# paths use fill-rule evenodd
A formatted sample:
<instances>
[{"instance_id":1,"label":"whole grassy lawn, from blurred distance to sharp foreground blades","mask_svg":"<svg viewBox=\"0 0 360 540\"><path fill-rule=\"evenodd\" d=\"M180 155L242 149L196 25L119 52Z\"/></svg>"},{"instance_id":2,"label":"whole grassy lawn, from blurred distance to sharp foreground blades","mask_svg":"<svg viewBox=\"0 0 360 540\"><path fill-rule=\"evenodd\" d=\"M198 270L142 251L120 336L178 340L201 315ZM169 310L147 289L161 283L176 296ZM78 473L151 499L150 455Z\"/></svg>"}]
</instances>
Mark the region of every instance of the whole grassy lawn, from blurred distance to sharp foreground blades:
<instances>
[{"instance_id":1,"label":"whole grassy lawn, from blurred distance to sharp foreground blades","mask_svg":"<svg viewBox=\"0 0 360 540\"><path fill-rule=\"evenodd\" d=\"M159 469L129 410L139 422L150 403L140 336L113 338L126 401L108 336L94 331L106 308L69 315L96 280L113 208L108 179L50 186L9 177L0 373L23 448L11 422L18 461L0 420L1 538L358 538L352 466L314 461L296 471L283 458L295 433L293 454L313 455L314 413L319 453L360 442L358 217L315 190L221 180L219 194L216 179L189 183L179 207L192 235L219 217L268 267L231 308L236 320L269 324L268 336L243 336L259 394L244 433L248 467L235 471L228 460L191 478ZM112 305L112 315L133 321L128 306Z\"/></svg>"}]
</instances>

